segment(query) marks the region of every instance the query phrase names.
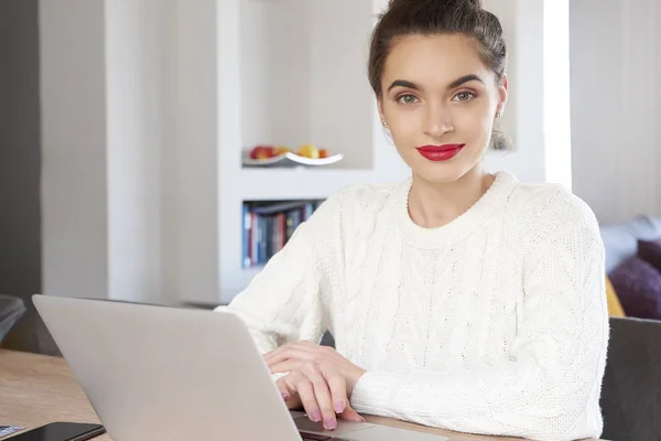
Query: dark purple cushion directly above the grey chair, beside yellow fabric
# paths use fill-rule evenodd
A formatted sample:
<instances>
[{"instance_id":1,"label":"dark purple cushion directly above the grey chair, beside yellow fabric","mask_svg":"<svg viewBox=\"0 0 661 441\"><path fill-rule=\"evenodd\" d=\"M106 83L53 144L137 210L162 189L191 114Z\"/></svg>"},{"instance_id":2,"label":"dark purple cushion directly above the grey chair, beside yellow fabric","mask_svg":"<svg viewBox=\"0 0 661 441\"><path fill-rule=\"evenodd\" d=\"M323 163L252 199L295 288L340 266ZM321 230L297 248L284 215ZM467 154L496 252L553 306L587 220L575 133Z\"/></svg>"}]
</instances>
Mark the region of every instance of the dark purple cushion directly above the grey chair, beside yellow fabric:
<instances>
[{"instance_id":1,"label":"dark purple cushion directly above the grey chair, beside yellow fabric","mask_svg":"<svg viewBox=\"0 0 661 441\"><path fill-rule=\"evenodd\" d=\"M639 257L620 263L610 282L628 316L661 320L661 272Z\"/></svg>"}]
</instances>

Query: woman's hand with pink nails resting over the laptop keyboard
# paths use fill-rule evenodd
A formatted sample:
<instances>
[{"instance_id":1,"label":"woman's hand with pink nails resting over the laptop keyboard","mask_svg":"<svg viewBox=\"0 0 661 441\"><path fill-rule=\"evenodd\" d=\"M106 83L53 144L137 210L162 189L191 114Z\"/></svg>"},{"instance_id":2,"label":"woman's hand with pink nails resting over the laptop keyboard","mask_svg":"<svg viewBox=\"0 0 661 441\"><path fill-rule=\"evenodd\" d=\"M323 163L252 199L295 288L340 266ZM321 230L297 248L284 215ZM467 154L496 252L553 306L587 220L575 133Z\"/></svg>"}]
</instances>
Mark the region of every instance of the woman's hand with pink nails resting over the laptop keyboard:
<instances>
[{"instance_id":1,"label":"woman's hand with pink nails resting over the laptop keyboard","mask_svg":"<svg viewBox=\"0 0 661 441\"><path fill-rule=\"evenodd\" d=\"M272 374L289 373L275 383L290 409L305 409L312 421L335 429L337 417L365 421L349 405L365 369L330 347L310 342L289 343L264 355Z\"/></svg>"}]
</instances>

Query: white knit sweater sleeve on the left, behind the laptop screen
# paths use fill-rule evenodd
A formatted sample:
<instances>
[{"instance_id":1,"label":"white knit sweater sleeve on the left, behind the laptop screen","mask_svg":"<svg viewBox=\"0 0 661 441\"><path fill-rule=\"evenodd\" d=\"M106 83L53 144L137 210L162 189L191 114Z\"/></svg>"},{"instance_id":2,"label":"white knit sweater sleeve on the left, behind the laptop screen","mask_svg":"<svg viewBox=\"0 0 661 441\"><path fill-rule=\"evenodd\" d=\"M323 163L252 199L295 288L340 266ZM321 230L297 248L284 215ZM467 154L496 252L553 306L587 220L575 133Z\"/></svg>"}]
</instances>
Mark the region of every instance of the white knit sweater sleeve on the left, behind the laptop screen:
<instances>
[{"instance_id":1,"label":"white knit sweater sleeve on the left, behind the laptop screen","mask_svg":"<svg viewBox=\"0 0 661 441\"><path fill-rule=\"evenodd\" d=\"M327 330L339 198L326 200L229 305L216 309L239 316L261 354L292 341L317 342Z\"/></svg>"}]
</instances>

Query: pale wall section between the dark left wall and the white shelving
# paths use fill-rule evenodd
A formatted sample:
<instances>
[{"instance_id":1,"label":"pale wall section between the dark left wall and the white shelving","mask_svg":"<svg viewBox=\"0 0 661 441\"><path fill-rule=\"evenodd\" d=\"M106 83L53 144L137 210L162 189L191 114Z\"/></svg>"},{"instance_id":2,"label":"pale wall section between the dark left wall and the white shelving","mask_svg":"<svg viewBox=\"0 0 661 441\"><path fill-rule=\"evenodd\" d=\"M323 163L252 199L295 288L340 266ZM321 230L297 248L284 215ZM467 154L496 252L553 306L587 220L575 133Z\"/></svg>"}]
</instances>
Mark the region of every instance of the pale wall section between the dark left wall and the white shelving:
<instances>
[{"instance_id":1,"label":"pale wall section between the dark left wall and the white shelving","mask_svg":"<svg viewBox=\"0 0 661 441\"><path fill-rule=\"evenodd\" d=\"M44 293L217 298L216 12L215 0L41 2Z\"/></svg>"}]
</instances>

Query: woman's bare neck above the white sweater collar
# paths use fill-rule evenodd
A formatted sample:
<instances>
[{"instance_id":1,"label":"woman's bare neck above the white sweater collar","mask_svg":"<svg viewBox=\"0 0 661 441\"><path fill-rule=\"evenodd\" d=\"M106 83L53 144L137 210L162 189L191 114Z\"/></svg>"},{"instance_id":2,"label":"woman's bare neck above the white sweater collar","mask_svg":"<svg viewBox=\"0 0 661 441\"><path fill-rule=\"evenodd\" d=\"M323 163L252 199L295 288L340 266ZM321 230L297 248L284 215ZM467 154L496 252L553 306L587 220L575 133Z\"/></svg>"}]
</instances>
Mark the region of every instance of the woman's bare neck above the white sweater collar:
<instances>
[{"instance_id":1,"label":"woman's bare neck above the white sweater collar","mask_svg":"<svg viewBox=\"0 0 661 441\"><path fill-rule=\"evenodd\" d=\"M413 174L409 194L409 215L425 228L449 224L468 211L494 183L481 165L455 182L437 184Z\"/></svg>"}]
</instances>

